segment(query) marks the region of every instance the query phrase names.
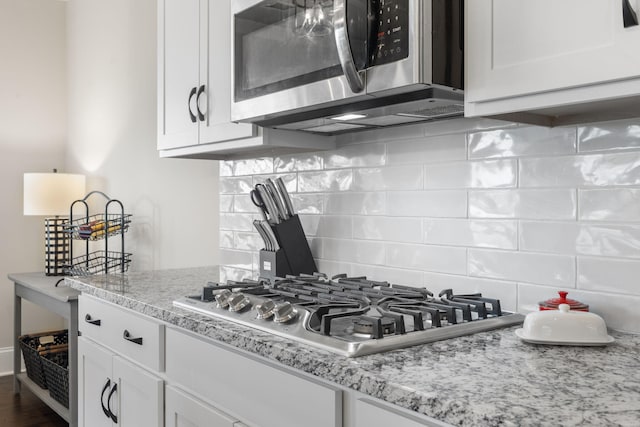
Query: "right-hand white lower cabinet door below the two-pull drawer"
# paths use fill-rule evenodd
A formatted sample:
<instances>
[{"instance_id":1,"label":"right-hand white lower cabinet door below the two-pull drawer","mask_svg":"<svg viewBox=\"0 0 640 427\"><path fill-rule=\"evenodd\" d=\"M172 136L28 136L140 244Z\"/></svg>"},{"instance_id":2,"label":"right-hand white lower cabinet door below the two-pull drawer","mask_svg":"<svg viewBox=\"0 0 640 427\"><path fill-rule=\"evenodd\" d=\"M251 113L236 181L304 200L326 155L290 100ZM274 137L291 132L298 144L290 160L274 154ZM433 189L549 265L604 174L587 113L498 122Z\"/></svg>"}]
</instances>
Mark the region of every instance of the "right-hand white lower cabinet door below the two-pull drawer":
<instances>
[{"instance_id":1,"label":"right-hand white lower cabinet door below the two-pull drawer","mask_svg":"<svg viewBox=\"0 0 640 427\"><path fill-rule=\"evenodd\" d=\"M163 382L121 357L113 359L113 377L117 379L117 408L111 408L122 427L162 427ZM112 404L113 406L113 404Z\"/></svg>"}]
</instances>

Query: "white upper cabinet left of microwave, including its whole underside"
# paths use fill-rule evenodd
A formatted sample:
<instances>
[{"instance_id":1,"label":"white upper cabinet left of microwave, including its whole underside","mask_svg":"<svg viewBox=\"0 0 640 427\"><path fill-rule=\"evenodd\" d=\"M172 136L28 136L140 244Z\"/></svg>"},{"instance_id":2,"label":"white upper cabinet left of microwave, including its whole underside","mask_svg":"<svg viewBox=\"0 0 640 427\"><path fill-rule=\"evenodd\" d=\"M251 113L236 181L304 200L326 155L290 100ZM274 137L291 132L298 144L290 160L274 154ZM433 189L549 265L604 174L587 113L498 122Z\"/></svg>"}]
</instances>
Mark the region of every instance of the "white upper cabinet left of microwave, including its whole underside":
<instances>
[{"instance_id":1,"label":"white upper cabinet left of microwave, including its whole underside","mask_svg":"<svg viewBox=\"0 0 640 427\"><path fill-rule=\"evenodd\" d=\"M158 2L161 157L226 159L335 148L332 137L231 121L230 0Z\"/></svg>"}]
</instances>

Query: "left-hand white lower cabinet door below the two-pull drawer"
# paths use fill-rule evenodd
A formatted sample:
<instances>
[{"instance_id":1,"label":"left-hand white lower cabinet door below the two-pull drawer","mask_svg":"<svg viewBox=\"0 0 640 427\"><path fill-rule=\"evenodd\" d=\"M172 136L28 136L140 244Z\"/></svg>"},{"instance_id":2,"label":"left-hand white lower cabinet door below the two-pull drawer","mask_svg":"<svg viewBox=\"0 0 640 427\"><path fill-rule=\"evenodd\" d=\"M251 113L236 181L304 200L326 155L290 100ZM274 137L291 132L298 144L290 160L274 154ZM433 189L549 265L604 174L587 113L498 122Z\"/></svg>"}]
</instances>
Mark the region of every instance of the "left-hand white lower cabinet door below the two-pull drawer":
<instances>
[{"instance_id":1,"label":"left-hand white lower cabinet door below the two-pull drawer","mask_svg":"<svg viewBox=\"0 0 640 427\"><path fill-rule=\"evenodd\" d=\"M103 406L113 386L112 353L78 338L78 424L82 427L111 427Z\"/></svg>"}]
</instances>

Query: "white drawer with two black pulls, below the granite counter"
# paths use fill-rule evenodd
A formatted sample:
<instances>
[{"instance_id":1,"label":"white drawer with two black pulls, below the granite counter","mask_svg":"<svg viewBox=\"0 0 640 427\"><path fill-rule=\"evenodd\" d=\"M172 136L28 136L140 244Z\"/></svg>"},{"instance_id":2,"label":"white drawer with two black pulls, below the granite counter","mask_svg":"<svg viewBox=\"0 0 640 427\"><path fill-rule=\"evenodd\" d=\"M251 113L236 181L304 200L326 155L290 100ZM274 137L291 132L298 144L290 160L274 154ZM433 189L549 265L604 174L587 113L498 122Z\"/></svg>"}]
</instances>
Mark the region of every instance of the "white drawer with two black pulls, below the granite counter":
<instances>
[{"instance_id":1,"label":"white drawer with two black pulls, below the granite counter","mask_svg":"<svg viewBox=\"0 0 640 427\"><path fill-rule=\"evenodd\" d=\"M82 336L153 371L164 369L164 326L153 319L82 295L78 329Z\"/></svg>"}]
</instances>

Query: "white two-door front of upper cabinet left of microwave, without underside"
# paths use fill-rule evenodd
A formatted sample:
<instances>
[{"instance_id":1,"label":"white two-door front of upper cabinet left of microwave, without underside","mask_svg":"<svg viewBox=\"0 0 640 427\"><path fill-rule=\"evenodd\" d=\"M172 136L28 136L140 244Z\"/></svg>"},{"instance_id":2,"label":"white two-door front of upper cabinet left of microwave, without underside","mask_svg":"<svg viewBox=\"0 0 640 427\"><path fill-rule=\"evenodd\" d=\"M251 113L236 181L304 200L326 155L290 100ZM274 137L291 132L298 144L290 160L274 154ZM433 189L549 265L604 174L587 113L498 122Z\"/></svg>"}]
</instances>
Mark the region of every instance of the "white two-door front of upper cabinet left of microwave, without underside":
<instances>
[{"instance_id":1,"label":"white two-door front of upper cabinet left of microwave, without underside","mask_svg":"<svg viewBox=\"0 0 640 427\"><path fill-rule=\"evenodd\" d=\"M158 149L255 136L231 122L229 1L158 5Z\"/></svg>"}]
</instances>

